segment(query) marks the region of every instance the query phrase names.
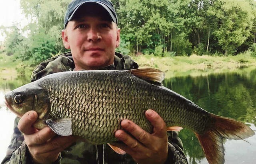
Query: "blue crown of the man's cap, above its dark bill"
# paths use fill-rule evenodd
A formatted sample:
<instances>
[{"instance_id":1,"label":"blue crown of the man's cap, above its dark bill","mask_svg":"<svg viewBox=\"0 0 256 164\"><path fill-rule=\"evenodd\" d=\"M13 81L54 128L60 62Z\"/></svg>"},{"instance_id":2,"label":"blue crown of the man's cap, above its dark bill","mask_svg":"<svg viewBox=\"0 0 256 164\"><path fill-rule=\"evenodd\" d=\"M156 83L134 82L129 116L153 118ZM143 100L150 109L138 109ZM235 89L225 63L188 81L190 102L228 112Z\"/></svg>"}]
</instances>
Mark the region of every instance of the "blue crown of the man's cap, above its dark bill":
<instances>
[{"instance_id":1,"label":"blue crown of the man's cap, above its dark bill","mask_svg":"<svg viewBox=\"0 0 256 164\"><path fill-rule=\"evenodd\" d=\"M118 24L116 11L114 9L112 2L110 2L109 0L73 0L68 5L64 17L64 28L66 28L68 21L73 19L73 16L78 11L78 9L86 3L95 3L102 6L108 12L109 16L111 17L111 20Z\"/></svg>"}]
</instances>

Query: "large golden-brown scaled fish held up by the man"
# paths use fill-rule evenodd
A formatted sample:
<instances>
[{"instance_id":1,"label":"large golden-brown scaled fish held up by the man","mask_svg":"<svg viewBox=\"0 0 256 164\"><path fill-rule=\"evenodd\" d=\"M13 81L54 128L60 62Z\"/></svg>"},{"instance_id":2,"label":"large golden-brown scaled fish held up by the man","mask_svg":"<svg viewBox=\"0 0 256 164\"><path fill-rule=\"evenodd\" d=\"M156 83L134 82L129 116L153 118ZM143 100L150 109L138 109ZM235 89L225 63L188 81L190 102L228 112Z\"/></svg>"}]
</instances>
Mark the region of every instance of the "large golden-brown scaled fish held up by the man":
<instances>
[{"instance_id":1,"label":"large golden-brown scaled fish held up by the man","mask_svg":"<svg viewBox=\"0 0 256 164\"><path fill-rule=\"evenodd\" d=\"M151 68L59 72L21 86L5 99L19 117L37 111L36 128L48 125L58 135L77 135L92 144L115 142L114 133L123 119L151 133L144 112L154 109L168 130L194 131L210 164L224 163L224 138L255 134L244 123L209 113L165 88L163 79L163 72Z\"/></svg>"}]
</instances>

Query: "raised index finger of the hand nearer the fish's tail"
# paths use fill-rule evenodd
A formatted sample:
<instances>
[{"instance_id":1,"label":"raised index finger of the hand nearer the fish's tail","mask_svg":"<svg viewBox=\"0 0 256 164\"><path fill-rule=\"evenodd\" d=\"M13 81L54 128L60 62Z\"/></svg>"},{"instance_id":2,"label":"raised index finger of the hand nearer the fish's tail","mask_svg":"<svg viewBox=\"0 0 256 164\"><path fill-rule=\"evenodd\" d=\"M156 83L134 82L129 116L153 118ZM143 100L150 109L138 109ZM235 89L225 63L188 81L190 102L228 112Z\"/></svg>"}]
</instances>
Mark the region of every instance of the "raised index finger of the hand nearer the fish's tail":
<instances>
[{"instance_id":1,"label":"raised index finger of the hand nearer the fish's tail","mask_svg":"<svg viewBox=\"0 0 256 164\"><path fill-rule=\"evenodd\" d=\"M148 109L145 115L148 121L150 121L154 127L154 134L156 134L158 137L165 137L167 128L166 123L164 122L162 117L160 117L158 113L151 109Z\"/></svg>"}]
</instances>

